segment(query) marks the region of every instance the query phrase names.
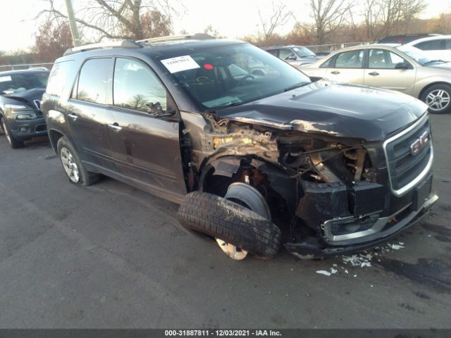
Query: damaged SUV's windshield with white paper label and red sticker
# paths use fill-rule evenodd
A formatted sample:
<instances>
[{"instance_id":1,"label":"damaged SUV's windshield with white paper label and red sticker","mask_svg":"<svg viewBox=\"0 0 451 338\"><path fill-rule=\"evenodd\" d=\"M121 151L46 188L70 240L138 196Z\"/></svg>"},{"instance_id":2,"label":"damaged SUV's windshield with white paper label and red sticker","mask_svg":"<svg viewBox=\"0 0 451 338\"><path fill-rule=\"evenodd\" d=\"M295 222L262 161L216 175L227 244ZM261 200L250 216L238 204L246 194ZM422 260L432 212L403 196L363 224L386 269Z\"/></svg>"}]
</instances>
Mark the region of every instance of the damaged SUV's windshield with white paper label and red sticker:
<instances>
[{"instance_id":1,"label":"damaged SUV's windshield with white paper label and red sticker","mask_svg":"<svg viewBox=\"0 0 451 338\"><path fill-rule=\"evenodd\" d=\"M185 92L209 111L311 82L288 63L249 44L204 49L161 63Z\"/></svg>"}]
</instances>

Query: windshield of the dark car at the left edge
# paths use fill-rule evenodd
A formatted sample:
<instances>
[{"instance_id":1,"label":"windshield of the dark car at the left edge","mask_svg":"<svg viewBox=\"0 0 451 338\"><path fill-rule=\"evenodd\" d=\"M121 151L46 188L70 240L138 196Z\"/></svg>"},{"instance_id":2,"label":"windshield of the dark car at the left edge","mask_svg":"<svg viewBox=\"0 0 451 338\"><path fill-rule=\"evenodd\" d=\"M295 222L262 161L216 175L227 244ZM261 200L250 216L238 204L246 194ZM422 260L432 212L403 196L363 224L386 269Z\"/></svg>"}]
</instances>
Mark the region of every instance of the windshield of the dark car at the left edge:
<instances>
[{"instance_id":1,"label":"windshield of the dark car at the left edge","mask_svg":"<svg viewBox=\"0 0 451 338\"><path fill-rule=\"evenodd\" d=\"M0 75L0 94L16 94L30 89L45 88L49 72L42 73L6 73Z\"/></svg>"}]
</instances>

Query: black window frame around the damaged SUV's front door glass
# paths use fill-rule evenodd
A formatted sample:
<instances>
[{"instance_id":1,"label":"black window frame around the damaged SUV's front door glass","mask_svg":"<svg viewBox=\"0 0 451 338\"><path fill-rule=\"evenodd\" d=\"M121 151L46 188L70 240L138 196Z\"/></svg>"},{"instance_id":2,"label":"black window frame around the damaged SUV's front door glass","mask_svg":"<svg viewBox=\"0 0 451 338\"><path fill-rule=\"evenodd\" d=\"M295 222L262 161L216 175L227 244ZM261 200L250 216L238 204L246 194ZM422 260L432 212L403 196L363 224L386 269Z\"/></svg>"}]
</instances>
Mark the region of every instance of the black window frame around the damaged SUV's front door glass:
<instances>
[{"instance_id":1,"label":"black window frame around the damaged SUV's front door glass","mask_svg":"<svg viewBox=\"0 0 451 338\"><path fill-rule=\"evenodd\" d=\"M158 73L156 73L156 71L147 62L141 60L140 58L135 58L133 56L123 56L123 55L113 56L113 68L112 68L112 73L111 73L111 103L108 104L107 106L109 108L112 108L115 111L125 111L127 113L137 113L140 115L144 115L149 118L158 118L157 116L150 115L149 113L146 113L145 111L140 111L138 109L125 108L125 107L114 105L114 70L116 69L116 59L118 59L118 58L125 58L128 60L136 61L137 63L141 63L144 68L147 68L150 71L150 73L152 73L155 76L156 80L161 84L161 87L163 87L163 89L166 90L166 104L167 104L166 109L168 109L170 104L171 104L171 106L173 106L173 109L175 109L175 113L166 118L170 118L172 120L176 119L177 121L179 121L180 120L180 109L178 108L177 104L175 103L175 100L174 100L171 92L169 91L168 87L166 87L166 84L164 84L164 82L161 80L161 77L159 77ZM165 118L159 118L159 119L162 120Z\"/></svg>"}]
</instances>

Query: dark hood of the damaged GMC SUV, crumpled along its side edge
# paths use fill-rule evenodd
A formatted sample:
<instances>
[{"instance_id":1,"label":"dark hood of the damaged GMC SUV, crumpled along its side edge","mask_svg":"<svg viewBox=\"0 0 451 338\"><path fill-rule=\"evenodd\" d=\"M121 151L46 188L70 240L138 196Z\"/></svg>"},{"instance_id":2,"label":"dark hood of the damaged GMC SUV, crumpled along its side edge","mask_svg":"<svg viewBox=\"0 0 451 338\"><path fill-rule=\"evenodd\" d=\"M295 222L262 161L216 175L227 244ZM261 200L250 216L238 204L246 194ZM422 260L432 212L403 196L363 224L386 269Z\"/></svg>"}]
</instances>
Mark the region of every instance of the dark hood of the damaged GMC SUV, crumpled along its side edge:
<instances>
[{"instance_id":1,"label":"dark hood of the damaged GMC SUV, crumpled along its side edge","mask_svg":"<svg viewBox=\"0 0 451 338\"><path fill-rule=\"evenodd\" d=\"M279 129L381 141L423 115L428 106L389 90L319 81L216 114Z\"/></svg>"}]
</instances>

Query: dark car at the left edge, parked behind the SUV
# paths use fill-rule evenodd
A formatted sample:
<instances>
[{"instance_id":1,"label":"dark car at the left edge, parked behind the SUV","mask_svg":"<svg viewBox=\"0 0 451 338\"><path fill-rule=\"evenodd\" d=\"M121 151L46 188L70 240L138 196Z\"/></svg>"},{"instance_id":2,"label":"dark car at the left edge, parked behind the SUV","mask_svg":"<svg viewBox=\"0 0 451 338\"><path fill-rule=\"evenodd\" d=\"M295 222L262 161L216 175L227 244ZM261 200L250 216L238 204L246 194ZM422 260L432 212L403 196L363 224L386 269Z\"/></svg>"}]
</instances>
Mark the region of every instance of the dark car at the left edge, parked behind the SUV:
<instances>
[{"instance_id":1,"label":"dark car at the left edge, parked behind the SUV","mask_svg":"<svg viewBox=\"0 0 451 338\"><path fill-rule=\"evenodd\" d=\"M48 77L49 70L0 72L0 125L11 148L47 135L39 102Z\"/></svg>"}]
</instances>

